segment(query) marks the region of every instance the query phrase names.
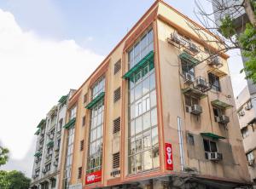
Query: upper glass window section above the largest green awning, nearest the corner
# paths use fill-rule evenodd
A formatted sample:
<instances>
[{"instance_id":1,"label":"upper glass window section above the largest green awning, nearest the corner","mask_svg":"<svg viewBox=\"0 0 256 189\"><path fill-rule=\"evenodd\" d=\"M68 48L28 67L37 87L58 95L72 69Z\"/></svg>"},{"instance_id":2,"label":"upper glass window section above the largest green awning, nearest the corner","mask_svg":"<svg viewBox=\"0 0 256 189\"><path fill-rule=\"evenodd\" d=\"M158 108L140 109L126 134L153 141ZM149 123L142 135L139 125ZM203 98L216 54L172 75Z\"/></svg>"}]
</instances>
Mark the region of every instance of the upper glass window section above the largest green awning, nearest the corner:
<instances>
[{"instance_id":1,"label":"upper glass window section above the largest green awning, nearest the corner","mask_svg":"<svg viewBox=\"0 0 256 189\"><path fill-rule=\"evenodd\" d=\"M150 51L154 50L153 41L154 41L153 30L150 29L130 49L128 53L128 62L129 62L130 69L131 67L137 65L137 63L140 60L142 60L145 57L145 55L147 55Z\"/></svg>"}]
</instances>

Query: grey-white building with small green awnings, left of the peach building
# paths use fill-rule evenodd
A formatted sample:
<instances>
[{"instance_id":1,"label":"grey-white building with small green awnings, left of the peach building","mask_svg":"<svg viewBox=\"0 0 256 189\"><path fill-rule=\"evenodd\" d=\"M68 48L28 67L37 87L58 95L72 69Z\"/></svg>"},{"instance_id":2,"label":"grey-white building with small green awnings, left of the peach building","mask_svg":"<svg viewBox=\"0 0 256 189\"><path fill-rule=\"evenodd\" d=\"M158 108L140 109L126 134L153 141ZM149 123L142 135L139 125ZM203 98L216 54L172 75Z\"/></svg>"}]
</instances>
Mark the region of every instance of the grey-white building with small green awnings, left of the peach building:
<instances>
[{"instance_id":1,"label":"grey-white building with small green awnings, left of the peach building","mask_svg":"<svg viewBox=\"0 0 256 189\"><path fill-rule=\"evenodd\" d=\"M38 135L35 161L32 169L32 189L48 189L58 187L60 173L62 129L66 120L68 99L75 90L61 96L56 106L53 106L47 116L38 124Z\"/></svg>"}]
</instances>

